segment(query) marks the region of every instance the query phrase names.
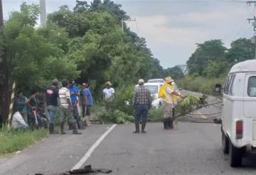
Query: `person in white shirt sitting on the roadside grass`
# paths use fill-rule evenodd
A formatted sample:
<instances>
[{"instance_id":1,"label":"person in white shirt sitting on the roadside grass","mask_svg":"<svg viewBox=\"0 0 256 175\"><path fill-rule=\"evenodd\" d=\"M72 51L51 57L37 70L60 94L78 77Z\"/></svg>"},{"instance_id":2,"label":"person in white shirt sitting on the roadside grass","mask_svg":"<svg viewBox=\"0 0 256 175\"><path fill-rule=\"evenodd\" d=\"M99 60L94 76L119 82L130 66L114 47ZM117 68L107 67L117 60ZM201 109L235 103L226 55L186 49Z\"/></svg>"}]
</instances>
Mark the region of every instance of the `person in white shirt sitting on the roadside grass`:
<instances>
[{"instance_id":1,"label":"person in white shirt sitting on the roadside grass","mask_svg":"<svg viewBox=\"0 0 256 175\"><path fill-rule=\"evenodd\" d=\"M11 128L15 129L27 129L28 125L26 124L25 120L22 117L23 115L23 108L19 108L16 113L14 113L11 119Z\"/></svg>"}]
</instances>

